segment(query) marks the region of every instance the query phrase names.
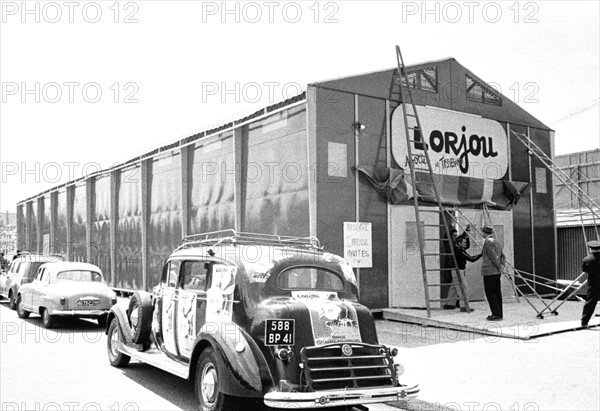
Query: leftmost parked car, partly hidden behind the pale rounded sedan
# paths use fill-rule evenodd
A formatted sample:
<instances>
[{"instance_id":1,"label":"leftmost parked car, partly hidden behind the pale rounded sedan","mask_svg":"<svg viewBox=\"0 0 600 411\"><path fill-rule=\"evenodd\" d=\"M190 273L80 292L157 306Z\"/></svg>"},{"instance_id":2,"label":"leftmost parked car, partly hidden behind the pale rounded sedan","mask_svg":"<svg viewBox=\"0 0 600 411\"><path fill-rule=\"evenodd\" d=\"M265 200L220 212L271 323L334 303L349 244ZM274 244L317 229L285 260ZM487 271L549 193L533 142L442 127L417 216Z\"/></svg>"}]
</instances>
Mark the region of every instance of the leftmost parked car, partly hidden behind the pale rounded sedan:
<instances>
[{"instance_id":1,"label":"leftmost parked car, partly hidden behind the pale rounded sedan","mask_svg":"<svg viewBox=\"0 0 600 411\"><path fill-rule=\"evenodd\" d=\"M63 257L58 254L19 253L10 264L6 275L0 277L0 298L8 298L9 307L15 310L21 285L32 282L41 265L62 260Z\"/></svg>"}]
</instances>

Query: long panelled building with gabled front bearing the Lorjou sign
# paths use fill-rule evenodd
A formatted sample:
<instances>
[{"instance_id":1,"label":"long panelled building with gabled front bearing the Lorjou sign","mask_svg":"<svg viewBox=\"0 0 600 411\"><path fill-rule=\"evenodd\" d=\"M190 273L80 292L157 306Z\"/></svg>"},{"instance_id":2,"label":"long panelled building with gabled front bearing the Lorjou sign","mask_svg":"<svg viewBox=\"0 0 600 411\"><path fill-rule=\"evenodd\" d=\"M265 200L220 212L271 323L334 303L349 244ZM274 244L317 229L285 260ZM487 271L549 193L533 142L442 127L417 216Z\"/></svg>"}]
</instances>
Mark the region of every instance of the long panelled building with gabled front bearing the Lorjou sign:
<instances>
[{"instance_id":1,"label":"long panelled building with gabled front bearing the Lorjou sign","mask_svg":"<svg viewBox=\"0 0 600 411\"><path fill-rule=\"evenodd\" d=\"M407 69L444 202L459 220L492 223L517 269L554 280L552 176L511 133L551 156L553 131L455 59ZM355 267L361 302L422 307L398 99L395 69L309 84L251 116L23 200L19 247L97 264L115 289L147 290L185 235L314 235ZM483 299L479 264L467 271L474 300Z\"/></svg>"}]
</instances>

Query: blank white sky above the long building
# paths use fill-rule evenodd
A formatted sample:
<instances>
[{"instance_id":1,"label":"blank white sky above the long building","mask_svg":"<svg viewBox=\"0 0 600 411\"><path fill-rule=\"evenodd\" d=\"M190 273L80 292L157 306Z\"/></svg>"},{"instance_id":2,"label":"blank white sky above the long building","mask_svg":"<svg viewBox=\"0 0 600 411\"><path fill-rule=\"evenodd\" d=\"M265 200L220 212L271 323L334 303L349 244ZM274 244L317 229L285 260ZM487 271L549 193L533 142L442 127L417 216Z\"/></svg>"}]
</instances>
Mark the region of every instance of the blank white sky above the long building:
<instances>
[{"instance_id":1,"label":"blank white sky above the long building","mask_svg":"<svg viewBox=\"0 0 600 411\"><path fill-rule=\"evenodd\" d=\"M0 1L0 211L291 97L454 57L600 148L597 1Z\"/></svg>"}]
</instances>

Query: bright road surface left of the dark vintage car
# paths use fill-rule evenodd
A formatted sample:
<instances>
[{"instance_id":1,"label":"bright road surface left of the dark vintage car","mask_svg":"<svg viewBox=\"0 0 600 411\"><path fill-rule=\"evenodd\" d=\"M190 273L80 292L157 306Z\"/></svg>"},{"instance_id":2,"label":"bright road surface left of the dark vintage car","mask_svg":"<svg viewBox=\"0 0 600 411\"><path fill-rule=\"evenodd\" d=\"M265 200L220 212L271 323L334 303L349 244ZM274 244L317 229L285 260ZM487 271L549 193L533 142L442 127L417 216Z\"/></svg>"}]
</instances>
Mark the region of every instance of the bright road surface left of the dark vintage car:
<instances>
[{"instance_id":1,"label":"bright road surface left of the dark vintage car","mask_svg":"<svg viewBox=\"0 0 600 411\"><path fill-rule=\"evenodd\" d=\"M38 315L22 320L3 300L0 323L2 411L196 409L189 381L133 360L126 368L111 367L96 321L63 320L47 330Z\"/></svg>"}]
</instances>

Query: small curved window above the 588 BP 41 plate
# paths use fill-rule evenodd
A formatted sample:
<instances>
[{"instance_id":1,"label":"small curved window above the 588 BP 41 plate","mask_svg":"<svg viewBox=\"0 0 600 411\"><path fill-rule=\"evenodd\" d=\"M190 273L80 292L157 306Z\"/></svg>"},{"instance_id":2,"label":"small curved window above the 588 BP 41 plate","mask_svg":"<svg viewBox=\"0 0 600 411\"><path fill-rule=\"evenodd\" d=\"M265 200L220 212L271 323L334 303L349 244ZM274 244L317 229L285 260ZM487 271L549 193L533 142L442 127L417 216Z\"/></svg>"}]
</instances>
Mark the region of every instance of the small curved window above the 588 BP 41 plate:
<instances>
[{"instance_id":1,"label":"small curved window above the 588 BP 41 plate","mask_svg":"<svg viewBox=\"0 0 600 411\"><path fill-rule=\"evenodd\" d=\"M318 267L291 267L282 271L277 280L282 290L344 290L340 276Z\"/></svg>"}]
</instances>

